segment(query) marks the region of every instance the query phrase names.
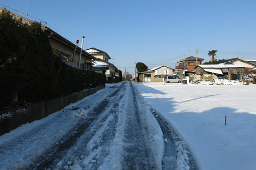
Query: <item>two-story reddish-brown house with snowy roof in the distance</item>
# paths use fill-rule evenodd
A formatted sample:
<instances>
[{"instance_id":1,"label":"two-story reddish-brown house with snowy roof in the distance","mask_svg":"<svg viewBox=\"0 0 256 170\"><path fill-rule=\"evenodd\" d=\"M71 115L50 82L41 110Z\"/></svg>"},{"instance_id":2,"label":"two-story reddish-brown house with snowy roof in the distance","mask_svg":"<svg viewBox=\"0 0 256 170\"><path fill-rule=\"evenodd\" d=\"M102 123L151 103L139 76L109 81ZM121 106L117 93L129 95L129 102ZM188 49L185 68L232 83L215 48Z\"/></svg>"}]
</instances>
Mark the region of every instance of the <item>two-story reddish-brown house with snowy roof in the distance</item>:
<instances>
[{"instance_id":1,"label":"two-story reddish-brown house with snowy roof in the distance","mask_svg":"<svg viewBox=\"0 0 256 170\"><path fill-rule=\"evenodd\" d=\"M195 71L195 66L201 65L203 62L204 58L199 58L199 57L187 57L184 59L180 59L177 61L175 69L180 70L180 71Z\"/></svg>"}]
</instances>

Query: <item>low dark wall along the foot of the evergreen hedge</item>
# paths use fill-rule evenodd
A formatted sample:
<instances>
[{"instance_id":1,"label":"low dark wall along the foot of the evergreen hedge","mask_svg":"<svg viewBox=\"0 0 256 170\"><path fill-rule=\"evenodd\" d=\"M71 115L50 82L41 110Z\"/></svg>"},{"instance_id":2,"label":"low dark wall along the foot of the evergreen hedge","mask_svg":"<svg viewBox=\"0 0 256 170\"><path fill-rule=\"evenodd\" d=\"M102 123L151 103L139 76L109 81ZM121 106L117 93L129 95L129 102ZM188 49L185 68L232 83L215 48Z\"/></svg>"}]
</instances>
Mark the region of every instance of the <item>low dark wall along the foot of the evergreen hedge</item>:
<instances>
[{"instance_id":1,"label":"low dark wall along the foot of the evergreen hedge","mask_svg":"<svg viewBox=\"0 0 256 170\"><path fill-rule=\"evenodd\" d=\"M92 95L102 88L104 87L0 111L0 135L18 128L20 125L47 117L49 114L60 111L65 106Z\"/></svg>"}]
</instances>

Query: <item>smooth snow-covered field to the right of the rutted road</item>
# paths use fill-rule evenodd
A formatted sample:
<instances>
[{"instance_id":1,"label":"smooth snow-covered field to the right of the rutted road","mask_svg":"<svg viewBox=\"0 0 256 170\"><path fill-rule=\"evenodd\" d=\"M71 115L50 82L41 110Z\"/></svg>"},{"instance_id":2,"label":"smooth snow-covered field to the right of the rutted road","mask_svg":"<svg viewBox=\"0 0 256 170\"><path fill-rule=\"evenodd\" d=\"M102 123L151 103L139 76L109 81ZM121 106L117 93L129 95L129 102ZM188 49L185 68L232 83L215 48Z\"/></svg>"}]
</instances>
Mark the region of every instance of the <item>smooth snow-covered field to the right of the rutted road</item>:
<instances>
[{"instance_id":1,"label":"smooth snow-covered field to the right of the rutted road","mask_svg":"<svg viewBox=\"0 0 256 170\"><path fill-rule=\"evenodd\" d=\"M256 85L224 84L232 85L134 83L200 169L256 169Z\"/></svg>"}]
</instances>

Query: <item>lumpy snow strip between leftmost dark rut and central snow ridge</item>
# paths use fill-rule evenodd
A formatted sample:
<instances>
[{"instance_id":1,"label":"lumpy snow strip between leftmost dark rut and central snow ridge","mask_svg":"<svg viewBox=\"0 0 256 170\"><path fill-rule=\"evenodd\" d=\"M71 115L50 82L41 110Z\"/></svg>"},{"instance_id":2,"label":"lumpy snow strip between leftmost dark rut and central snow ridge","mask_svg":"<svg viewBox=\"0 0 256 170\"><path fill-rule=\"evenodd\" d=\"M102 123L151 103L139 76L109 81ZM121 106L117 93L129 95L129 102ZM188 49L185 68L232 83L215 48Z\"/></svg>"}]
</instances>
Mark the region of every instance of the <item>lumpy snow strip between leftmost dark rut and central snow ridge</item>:
<instances>
[{"instance_id":1,"label":"lumpy snow strip between leftmost dark rut and central snow ridge","mask_svg":"<svg viewBox=\"0 0 256 170\"><path fill-rule=\"evenodd\" d=\"M84 131L76 144L69 148L63 159L55 165L56 169L97 169L101 160L108 155L108 148L114 138L114 128L117 123L119 94L105 107L97 120Z\"/></svg>"}]
</instances>

